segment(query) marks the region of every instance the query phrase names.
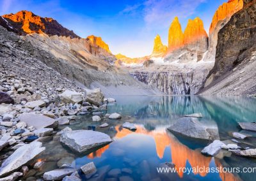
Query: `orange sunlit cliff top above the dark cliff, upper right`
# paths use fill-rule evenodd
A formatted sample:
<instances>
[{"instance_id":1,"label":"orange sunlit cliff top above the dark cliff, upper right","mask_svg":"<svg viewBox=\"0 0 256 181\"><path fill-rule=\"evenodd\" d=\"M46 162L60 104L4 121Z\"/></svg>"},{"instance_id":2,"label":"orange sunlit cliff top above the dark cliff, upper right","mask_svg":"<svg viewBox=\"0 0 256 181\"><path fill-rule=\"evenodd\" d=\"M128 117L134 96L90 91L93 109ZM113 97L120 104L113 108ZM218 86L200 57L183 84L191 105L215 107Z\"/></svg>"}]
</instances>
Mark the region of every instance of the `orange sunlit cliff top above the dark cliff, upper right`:
<instances>
[{"instance_id":1,"label":"orange sunlit cliff top above the dark cliff, upper right","mask_svg":"<svg viewBox=\"0 0 256 181\"><path fill-rule=\"evenodd\" d=\"M220 20L224 20L227 17L231 17L237 11L243 8L243 0L229 0L227 3L223 3L215 12L209 33L215 29Z\"/></svg>"}]
</instances>

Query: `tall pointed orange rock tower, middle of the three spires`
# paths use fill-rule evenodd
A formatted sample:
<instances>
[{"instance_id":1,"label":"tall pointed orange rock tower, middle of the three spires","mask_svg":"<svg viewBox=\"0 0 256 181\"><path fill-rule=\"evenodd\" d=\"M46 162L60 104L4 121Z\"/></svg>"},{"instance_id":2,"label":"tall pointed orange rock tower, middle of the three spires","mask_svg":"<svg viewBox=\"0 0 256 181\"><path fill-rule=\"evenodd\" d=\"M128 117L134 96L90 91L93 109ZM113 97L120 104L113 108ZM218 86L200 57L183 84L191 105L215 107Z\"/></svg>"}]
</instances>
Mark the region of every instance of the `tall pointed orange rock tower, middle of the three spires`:
<instances>
[{"instance_id":1,"label":"tall pointed orange rock tower, middle of the three spires","mask_svg":"<svg viewBox=\"0 0 256 181\"><path fill-rule=\"evenodd\" d=\"M175 17L168 33L168 52L172 52L173 50L183 47L183 40L184 36L179 18Z\"/></svg>"}]
</instances>

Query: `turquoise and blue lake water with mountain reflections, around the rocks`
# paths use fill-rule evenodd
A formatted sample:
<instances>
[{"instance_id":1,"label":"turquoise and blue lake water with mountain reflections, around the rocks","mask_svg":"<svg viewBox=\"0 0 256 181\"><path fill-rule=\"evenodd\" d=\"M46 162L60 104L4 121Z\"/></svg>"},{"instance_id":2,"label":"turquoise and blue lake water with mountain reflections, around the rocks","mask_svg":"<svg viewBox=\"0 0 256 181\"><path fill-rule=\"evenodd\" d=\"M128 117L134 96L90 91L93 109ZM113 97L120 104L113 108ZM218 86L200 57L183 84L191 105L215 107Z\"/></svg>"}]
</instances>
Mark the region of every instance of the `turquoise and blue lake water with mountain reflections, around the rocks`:
<instances>
[{"instance_id":1,"label":"turquoise and blue lake water with mountain reflections, around the rocks","mask_svg":"<svg viewBox=\"0 0 256 181\"><path fill-rule=\"evenodd\" d=\"M232 140L230 133L243 131L237 122L256 121L256 98L202 97L202 96L116 96L116 103L108 105L104 113L120 113L121 120L105 119L92 122L92 113L78 117L68 127L73 130L96 126L115 141L87 155L78 155L60 144L58 136L45 140L46 151L36 161L45 164L40 171L30 170L29 176L40 178L45 171L58 168L60 159L80 168L93 161L97 173L83 180L255 180L255 173L157 173L164 163L175 168L241 168L256 167L256 159L223 152L223 156L207 157L201 154L208 141L198 141L170 133L166 128L173 121L190 113L203 115L200 122L216 127L220 140ZM136 124L132 132L122 128L125 122ZM109 127L97 127L108 122ZM61 129L66 126L60 127ZM244 132L245 133L245 132ZM248 132L246 132L248 133ZM256 133L246 138L241 147L256 148ZM59 161L59 163L58 163ZM112 170L112 171L111 171ZM110 172L109 172L110 171ZM24 178L24 180L26 180ZM113 179L116 178L116 179ZM132 178L132 179L131 179Z\"/></svg>"}]
</instances>

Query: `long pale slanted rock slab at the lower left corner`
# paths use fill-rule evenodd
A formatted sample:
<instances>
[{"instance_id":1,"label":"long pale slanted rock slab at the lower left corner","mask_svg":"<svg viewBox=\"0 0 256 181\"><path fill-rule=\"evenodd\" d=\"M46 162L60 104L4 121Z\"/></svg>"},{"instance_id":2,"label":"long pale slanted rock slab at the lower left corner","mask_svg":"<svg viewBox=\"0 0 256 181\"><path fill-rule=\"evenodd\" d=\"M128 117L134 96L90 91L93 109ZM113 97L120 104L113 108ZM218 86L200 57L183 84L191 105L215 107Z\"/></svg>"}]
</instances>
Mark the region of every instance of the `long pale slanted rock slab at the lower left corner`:
<instances>
[{"instance_id":1,"label":"long pale slanted rock slab at the lower left corner","mask_svg":"<svg viewBox=\"0 0 256 181\"><path fill-rule=\"evenodd\" d=\"M31 159L38 156L44 150L45 147L42 147L42 143L38 141L18 148L1 165L0 177L8 175L15 170L18 170L21 166L31 161Z\"/></svg>"}]
</instances>

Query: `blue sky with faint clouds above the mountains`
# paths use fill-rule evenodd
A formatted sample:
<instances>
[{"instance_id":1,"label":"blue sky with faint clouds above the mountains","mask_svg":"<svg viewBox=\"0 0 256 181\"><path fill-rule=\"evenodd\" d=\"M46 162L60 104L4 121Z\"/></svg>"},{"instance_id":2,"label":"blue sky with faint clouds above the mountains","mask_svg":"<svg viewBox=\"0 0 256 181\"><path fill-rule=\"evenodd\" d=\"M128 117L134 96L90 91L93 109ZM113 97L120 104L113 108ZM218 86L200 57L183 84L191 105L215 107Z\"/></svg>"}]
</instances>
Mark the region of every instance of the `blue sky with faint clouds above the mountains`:
<instances>
[{"instance_id":1,"label":"blue sky with faint clouds above the mountains","mask_svg":"<svg viewBox=\"0 0 256 181\"><path fill-rule=\"evenodd\" d=\"M101 36L113 54L141 57L152 52L157 34L167 44L175 16L182 29L189 18L202 18L208 33L214 12L224 2L227 0L0 0L0 14L33 11L58 20L83 38Z\"/></svg>"}]
</instances>

